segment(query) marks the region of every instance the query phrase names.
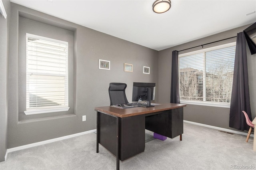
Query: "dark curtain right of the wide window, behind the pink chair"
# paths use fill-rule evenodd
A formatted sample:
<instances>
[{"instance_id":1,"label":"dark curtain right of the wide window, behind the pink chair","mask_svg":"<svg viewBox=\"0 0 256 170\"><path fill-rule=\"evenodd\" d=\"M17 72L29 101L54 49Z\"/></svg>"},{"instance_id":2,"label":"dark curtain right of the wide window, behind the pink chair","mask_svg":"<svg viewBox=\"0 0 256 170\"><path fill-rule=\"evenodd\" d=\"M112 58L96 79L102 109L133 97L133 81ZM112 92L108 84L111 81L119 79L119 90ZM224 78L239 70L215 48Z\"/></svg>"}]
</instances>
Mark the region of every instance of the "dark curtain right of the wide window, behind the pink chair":
<instances>
[{"instance_id":1,"label":"dark curtain right of the wide window, behind the pink chair","mask_svg":"<svg viewBox=\"0 0 256 170\"><path fill-rule=\"evenodd\" d=\"M237 34L234 77L230 102L229 127L248 130L249 126L242 111L252 120L248 84L246 38L244 32Z\"/></svg>"}]
</instances>

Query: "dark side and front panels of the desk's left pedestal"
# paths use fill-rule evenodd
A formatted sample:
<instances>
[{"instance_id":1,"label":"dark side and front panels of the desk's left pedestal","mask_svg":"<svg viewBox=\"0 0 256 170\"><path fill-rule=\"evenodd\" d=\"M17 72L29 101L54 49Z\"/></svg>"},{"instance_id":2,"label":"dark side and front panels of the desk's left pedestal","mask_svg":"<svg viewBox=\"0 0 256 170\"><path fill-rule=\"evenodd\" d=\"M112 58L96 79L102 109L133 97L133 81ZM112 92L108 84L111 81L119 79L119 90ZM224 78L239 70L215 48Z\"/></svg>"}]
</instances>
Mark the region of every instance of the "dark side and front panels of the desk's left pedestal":
<instances>
[{"instance_id":1,"label":"dark side and front panels of the desk's left pedestal","mask_svg":"<svg viewBox=\"0 0 256 170\"><path fill-rule=\"evenodd\" d=\"M98 112L99 143L116 156L116 117ZM145 150L145 116L120 119L120 160L126 160Z\"/></svg>"}]
</instances>

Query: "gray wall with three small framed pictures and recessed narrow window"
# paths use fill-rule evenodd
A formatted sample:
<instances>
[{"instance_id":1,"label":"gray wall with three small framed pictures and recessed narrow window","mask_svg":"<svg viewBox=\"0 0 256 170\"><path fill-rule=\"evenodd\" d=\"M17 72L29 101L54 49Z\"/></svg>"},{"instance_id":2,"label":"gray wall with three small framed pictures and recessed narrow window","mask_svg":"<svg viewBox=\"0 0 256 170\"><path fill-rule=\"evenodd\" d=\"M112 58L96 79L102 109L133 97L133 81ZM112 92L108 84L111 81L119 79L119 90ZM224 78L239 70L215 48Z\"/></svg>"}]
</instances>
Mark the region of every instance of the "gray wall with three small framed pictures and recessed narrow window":
<instances>
[{"instance_id":1,"label":"gray wall with three small framed pictures and recessed narrow window","mask_svg":"<svg viewBox=\"0 0 256 170\"><path fill-rule=\"evenodd\" d=\"M127 83L128 101L132 99L133 82L154 82L158 86L158 51L156 50L13 3L11 3L11 14L10 46L12 49L9 61L8 148L95 129L96 111L94 111L94 107L110 105L108 96L110 82ZM19 42L19 38L23 38L19 34L23 34L23 29L28 29L24 26L24 22L27 23L28 19L40 22L40 26L47 24L50 27L73 32L74 99L70 102L74 104L74 108L71 113L31 116L23 113L25 103L21 101L22 89L26 85L22 83L23 78L20 73L20 70L24 70L22 68L24 66L20 64L23 62L24 53L19 53L19 46L22 46L19 43L24 41ZM30 22L33 23L33 21ZM22 32L19 32L19 27L23 30ZM98 69L98 59L109 60L110 70ZM133 64L132 73L124 72L124 63ZM143 66L150 67L150 75L143 74ZM156 101L157 99L156 96ZM82 122L82 115L86 115L84 122Z\"/></svg>"}]
</instances>

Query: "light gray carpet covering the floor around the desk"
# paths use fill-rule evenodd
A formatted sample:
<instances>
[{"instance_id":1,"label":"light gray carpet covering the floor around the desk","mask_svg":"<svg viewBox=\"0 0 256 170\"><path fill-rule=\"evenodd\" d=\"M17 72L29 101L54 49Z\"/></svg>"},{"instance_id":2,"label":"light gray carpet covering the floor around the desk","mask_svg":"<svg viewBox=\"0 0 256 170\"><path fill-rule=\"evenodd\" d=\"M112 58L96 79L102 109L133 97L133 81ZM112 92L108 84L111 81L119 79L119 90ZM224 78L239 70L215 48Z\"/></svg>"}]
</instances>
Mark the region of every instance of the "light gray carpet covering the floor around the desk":
<instances>
[{"instance_id":1,"label":"light gray carpet covering the floor around the desk","mask_svg":"<svg viewBox=\"0 0 256 170\"><path fill-rule=\"evenodd\" d=\"M176 138L146 142L145 151L120 161L120 170L256 169L253 138L184 123L182 141ZM99 145L96 134L52 142L8 154L1 170L114 170L116 158Z\"/></svg>"}]
</instances>

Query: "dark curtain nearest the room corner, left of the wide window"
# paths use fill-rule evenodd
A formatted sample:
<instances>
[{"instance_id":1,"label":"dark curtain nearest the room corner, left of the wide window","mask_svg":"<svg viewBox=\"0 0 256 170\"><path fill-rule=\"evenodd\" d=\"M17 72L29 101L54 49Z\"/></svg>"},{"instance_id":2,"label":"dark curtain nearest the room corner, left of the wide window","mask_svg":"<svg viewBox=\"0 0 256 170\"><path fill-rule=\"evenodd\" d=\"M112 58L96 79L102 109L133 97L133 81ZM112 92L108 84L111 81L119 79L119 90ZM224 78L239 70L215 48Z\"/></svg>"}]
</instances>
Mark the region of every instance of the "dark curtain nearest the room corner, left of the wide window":
<instances>
[{"instance_id":1,"label":"dark curtain nearest the room corner, left of the wide window","mask_svg":"<svg viewBox=\"0 0 256 170\"><path fill-rule=\"evenodd\" d=\"M172 51L171 103L180 103L178 51Z\"/></svg>"}]
</instances>

